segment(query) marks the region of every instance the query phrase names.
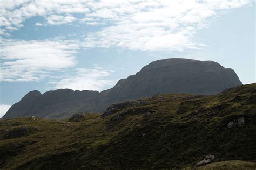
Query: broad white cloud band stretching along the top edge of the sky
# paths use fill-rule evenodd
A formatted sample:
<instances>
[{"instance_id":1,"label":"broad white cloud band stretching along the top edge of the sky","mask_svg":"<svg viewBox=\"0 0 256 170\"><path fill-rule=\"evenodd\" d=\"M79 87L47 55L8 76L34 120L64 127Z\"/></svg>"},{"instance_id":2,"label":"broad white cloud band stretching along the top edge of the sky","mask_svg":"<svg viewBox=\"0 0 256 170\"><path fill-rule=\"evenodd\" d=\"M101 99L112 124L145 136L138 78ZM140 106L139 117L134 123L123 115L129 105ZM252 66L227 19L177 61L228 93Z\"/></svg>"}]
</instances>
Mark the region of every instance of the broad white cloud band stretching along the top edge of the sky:
<instances>
[{"instance_id":1,"label":"broad white cloud band stretching along the top edge of the sky","mask_svg":"<svg viewBox=\"0 0 256 170\"><path fill-rule=\"evenodd\" d=\"M0 0L1 1L1 0ZM40 25L100 25L85 35L84 47L120 47L142 51L182 51L200 48L194 37L221 11L254 3L253 0L65 0L1 1L3 30L15 30L33 16L43 16ZM84 15L75 17L75 13ZM1 33L1 31L0 31Z\"/></svg>"}]
</instances>

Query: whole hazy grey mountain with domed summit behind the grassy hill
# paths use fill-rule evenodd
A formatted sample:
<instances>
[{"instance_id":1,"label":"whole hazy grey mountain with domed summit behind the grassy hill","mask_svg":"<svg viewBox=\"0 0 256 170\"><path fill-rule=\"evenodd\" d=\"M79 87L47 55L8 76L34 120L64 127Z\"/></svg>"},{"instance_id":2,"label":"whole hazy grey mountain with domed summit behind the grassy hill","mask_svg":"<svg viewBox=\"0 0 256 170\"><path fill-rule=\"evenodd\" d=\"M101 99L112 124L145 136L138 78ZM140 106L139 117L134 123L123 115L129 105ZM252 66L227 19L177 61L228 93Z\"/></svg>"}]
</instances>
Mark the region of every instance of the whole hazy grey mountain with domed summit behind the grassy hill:
<instances>
[{"instance_id":1,"label":"whole hazy grey mountain with domed summit behind the grassy hill","mask_svg":"<svg viewBox=\"0 0 256 170\"><path fill-rule=\"evenodd\" d=\"M103 112L113 103L150 97L158 93L212 95L240 85L233 69L213 61L164 59L151 62L135 75L102 91L58 89L41 94L30 91L3 118L38 116L64 119L78 111ZM85 87L86 88L86 87Z\"/></svg>"}]
</instances>

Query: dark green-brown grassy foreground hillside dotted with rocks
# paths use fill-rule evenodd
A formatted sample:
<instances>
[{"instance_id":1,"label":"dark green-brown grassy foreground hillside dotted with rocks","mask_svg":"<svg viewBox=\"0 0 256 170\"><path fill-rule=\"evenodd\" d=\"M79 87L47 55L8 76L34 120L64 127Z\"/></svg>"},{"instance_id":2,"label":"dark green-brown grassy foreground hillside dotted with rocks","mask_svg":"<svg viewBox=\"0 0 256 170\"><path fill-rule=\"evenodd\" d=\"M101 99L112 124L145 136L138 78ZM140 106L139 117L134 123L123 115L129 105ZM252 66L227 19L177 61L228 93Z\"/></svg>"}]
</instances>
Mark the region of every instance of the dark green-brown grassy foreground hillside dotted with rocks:
<instances>
[{"instance_id":1,"label":"dark green-brown grassy foreground hillside dotted with rocks","mask_svg":"<svg viewBox=\"0 0 256 170\"><path fill-rule=\"evenodd\" d=\"M69 121L3 119L0 168L190 169L211 155L206 168L255 169L255 132L256 83L212 96L158 94Z\"/></svg>"}]
</instances>

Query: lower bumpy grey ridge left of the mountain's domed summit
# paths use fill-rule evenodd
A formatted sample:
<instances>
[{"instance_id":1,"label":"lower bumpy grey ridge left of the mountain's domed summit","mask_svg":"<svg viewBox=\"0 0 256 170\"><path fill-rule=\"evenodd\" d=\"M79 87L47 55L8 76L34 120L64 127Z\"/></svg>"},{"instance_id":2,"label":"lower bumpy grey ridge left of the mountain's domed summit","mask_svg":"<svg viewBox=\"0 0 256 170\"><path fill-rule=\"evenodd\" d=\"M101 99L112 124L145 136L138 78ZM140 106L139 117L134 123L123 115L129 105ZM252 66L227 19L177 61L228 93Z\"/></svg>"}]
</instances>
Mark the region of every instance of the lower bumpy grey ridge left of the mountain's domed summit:
<instances>
[{"instance_id":1,"label":"lower bumpy grey ridge left of the mountain's domed summit","mask_svg":"<svg viewBox=\"0 0 256 170\"><path fill-rule=\"evenodd\" d=\"M70 89L47 91L43 95L37 90L30 91L21 101L12 105L3 118L30 115L44 118L68 118L72 115L71 113L81 110L93 111L99 94L98 91Z\"/></svg>"}]
</instances>

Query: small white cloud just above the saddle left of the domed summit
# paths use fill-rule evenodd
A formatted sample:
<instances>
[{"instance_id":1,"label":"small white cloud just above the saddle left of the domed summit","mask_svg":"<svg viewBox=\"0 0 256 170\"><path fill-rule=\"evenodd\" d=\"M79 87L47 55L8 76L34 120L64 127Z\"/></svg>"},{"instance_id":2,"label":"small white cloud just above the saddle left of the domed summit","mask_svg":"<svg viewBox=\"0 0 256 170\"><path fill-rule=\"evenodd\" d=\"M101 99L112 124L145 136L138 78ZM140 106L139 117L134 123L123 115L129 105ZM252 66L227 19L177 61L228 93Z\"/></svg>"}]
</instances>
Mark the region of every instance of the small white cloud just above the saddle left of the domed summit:
<instances>
[{"instance_id":1,"label":"small white cloud just above the saddle left of the domed summit","mask_svg":"<svg viewBox=\"0 0 256 170\"><path fill-rule=\"evenodd\" d=\"M107 80L113 70L95 66L92 69L78 68L75 75L64 76L58 81L51 82L55 84L56 89L69 88L73 90L97 90L105 89L105 86L114 84L114 81Z\"/></svg>"}]
</instances>

